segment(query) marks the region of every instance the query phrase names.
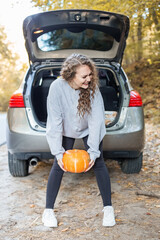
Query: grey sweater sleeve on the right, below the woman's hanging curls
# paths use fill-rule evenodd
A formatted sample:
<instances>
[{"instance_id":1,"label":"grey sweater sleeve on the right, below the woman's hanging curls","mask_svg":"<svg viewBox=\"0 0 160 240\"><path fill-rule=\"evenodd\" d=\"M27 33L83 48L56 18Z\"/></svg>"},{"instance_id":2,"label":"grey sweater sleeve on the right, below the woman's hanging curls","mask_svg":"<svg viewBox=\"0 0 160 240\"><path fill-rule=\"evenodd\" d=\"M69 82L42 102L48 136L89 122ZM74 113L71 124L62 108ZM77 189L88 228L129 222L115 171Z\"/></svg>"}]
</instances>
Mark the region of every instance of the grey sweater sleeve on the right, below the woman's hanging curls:
<instances>
[{"instance_id":1,"label":"grey sweater sleeve on the right, below the woman's hanging curls","mask_svg":"<svg viewBox=\"0 0 160 240\"><path fill-rule=\"evenodd\" d=\"M99 89L97 89L91 105L91 113L88 118L88 128L88 153L90 159L95 161L96 158L100 156L99 144L106 133L104 103Z\"/></svg>"}]
</instances>

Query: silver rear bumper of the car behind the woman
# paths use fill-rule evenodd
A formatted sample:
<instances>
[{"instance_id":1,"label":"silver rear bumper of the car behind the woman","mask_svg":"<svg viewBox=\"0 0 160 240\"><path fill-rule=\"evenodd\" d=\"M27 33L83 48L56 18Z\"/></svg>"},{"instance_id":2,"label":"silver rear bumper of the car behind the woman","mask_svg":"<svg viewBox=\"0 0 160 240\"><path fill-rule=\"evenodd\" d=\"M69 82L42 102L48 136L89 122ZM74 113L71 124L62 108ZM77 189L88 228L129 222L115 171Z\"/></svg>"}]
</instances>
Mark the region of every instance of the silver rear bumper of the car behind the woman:
<instances>
[{"instance_id":1,"label":"silver rear bumper of the car behind the woman","mask_svg":"<svg viewBox=\"0 0 160 240\"><path fill-rule=\"evenodd\" d=\"M17 118L18 116L18 118ZM6 129L7 147L18 159L50 159L49 145L44 132L31 129L25 109L9 109ZM76 139L74 148L84 148L83 141ZM104 156L108 158L133 158L144 148L143 110L129 109L124 126L116 131L107 129L103 139Z\"/></svg>"}]
</instances>

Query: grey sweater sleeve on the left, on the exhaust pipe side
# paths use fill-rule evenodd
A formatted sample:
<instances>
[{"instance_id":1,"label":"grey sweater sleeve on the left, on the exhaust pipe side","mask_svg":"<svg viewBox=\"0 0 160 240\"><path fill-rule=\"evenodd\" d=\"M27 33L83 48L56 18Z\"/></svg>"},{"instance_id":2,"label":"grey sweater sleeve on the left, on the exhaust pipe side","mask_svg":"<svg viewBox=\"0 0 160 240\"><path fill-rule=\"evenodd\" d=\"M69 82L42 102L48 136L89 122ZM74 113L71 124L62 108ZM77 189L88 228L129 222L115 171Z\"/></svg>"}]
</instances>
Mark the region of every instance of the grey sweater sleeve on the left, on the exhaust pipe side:
<instances>
[{"instance_id":1,"label":"grey sweater sleeve on the left, on the exhaust pipe side","mask_svg":"<svg viewBox=\"0 0 160 240\"><path fill-rule=\"evenodd\" d=\"M57 159L63 157L65 152L62 147L62 112L58 97L58 88L52 84L47 97L47 125L46 125L46 138L51 150L51 153ZM56 87L56 88L55 88Z\"/></svg>"}]
</instances>

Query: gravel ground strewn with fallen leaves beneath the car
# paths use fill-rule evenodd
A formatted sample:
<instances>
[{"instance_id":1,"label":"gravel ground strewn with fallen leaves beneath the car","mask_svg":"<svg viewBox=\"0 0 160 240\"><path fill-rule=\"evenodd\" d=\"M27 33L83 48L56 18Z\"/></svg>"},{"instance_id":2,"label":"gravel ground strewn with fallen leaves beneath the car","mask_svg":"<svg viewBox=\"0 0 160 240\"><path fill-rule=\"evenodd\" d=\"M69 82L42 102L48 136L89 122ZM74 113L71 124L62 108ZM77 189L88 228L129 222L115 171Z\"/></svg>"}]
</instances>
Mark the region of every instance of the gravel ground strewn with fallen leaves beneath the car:
<instances>
[{"instance_id":1,"label":"gravel ground strewn with fallen leaves beneath the car","mask_svg":"<svg viewBox=\"0 0 160 240\"><path fill-rule=\"evenodd\" d=\"M160 131L146 123L143 169L121 172L116 161L106 160L112 185L116 226L102 227L102 201L93 171L65 173L56 201L56 229L44 227L48 174L52 163L39 163L24 178L9 174L6 145L0 147L1 240L157 240L160 239Z\"/></svg>"}]
</instances>

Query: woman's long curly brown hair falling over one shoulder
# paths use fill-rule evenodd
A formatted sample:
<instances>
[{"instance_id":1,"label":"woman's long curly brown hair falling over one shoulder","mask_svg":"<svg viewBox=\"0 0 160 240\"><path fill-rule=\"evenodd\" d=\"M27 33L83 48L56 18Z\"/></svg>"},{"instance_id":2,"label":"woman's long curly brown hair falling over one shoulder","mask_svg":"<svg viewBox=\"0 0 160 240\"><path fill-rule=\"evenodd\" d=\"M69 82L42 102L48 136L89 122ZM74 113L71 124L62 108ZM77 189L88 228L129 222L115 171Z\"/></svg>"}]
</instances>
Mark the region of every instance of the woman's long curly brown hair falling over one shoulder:
<instances>
[{"instance_id":1,"label":"woman's long curly brown hair falling over one shoulder","mask_svg":"<svg viewBox=\"0 0 160 240\"><path fill-rule=\"evenodd\" d=\"M74 53L70 55L63 63L60 75L68 82L71 82L75 75L76 70L81 65L87 65L92 71L92 80L87 89L80 88L79 100L78 100L78 114L84 117L85 113L91 111L91 99L94 98L94 94L97 86L99 85L98 73L93 61L85 55Z\"/></svg>"}]
</instances>

